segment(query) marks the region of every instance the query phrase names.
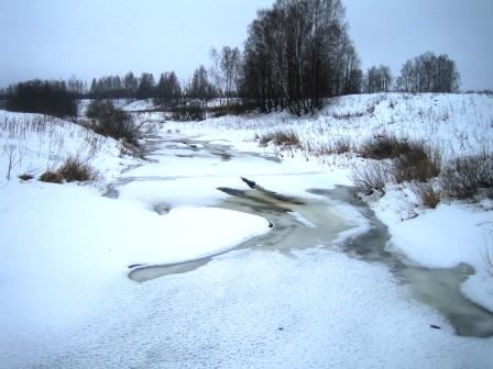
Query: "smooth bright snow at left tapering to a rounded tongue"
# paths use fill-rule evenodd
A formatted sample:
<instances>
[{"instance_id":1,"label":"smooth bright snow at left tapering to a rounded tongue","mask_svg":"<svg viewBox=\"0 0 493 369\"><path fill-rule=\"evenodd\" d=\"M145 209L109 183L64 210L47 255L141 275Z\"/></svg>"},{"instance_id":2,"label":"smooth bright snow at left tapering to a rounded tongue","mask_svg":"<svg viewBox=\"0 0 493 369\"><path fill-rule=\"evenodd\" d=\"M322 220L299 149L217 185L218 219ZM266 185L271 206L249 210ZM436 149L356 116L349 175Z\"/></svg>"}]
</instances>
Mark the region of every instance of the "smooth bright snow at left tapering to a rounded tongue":
<instances>
[{"instance_id":1,"label":"smooth bright snow at left tapering to a rounded tongue","mask_svg":"<svg viewBox=\"0 0 493 369\"><path fill-rule=\"evenodd\" d=\"M10 183L1 195L0 325L21 342L90 314L132 264L195 259L269 231L254 215L186 208L160 216L79 186Z\"/></svg>"}]
</instances>

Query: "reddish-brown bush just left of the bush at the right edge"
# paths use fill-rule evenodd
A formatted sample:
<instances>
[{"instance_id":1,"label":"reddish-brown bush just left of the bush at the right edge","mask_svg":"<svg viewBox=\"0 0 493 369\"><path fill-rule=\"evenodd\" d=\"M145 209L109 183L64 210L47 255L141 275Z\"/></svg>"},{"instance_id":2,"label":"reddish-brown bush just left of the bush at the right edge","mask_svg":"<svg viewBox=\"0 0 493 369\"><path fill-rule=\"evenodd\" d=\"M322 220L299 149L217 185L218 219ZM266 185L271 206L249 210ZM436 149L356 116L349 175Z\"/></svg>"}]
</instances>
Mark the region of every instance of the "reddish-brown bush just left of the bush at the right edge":
<instances>
[{"instance_id":1,"label":"reddish-brown bush just left of the bush at the right edge","mask_svg":"<svg viewBox=\"0 0 493 369\"><path fill-rule=\"evenodd\" d=\"M397 183L404 181L424 182L438 177L441 170L441 155L424 143L407 143L406 153L394 160L394 179Z\"/></svg>"}]
</instances>

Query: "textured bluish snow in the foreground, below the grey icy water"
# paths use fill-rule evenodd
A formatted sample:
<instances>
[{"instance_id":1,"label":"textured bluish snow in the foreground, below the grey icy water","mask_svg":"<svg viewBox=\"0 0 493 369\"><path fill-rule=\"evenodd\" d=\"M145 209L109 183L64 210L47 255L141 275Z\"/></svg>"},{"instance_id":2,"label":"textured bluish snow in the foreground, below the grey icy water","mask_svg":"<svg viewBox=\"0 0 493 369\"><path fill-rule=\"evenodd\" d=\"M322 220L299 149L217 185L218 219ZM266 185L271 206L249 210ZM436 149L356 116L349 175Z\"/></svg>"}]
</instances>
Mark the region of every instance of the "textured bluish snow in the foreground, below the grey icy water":
<instances>
[{"instance_id":1,"label":"textured bluish snow in the foreground, below the grey icy water","mask_svg":"<svg viewBox=\"0 0 493 369\"><path fill-rule=\"evenodd\" d=\"M66 333L45 350L24 350L18 362L65 368L487 368L491 362L491 340L454 336L443 317L409 299L385 269L317 249L294 256L232 251L165 280L117 284L101 305L77 339Z\"/></svg>"}]
</instances>

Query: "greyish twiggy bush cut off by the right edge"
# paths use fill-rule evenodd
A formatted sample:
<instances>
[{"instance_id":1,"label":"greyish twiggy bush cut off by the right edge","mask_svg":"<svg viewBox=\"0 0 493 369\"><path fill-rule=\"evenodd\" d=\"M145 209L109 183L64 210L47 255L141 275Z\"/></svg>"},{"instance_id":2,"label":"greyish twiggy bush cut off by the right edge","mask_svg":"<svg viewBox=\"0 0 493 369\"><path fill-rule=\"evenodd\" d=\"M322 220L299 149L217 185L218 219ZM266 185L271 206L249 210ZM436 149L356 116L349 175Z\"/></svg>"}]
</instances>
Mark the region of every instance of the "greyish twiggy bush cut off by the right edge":
<instances>
[{"instance_id":1,"label":"greyish twiggy bush cut off by the right edge","mask_svg":"<svg viewBox=\"0 0 493 369\"><path fill-rule=\"evenodd\" d=\"M493 156L480 154L453 159L441 175L443 193L460 200L472 199L483 191L493 199Z\"/></svg>"}]
</instances>

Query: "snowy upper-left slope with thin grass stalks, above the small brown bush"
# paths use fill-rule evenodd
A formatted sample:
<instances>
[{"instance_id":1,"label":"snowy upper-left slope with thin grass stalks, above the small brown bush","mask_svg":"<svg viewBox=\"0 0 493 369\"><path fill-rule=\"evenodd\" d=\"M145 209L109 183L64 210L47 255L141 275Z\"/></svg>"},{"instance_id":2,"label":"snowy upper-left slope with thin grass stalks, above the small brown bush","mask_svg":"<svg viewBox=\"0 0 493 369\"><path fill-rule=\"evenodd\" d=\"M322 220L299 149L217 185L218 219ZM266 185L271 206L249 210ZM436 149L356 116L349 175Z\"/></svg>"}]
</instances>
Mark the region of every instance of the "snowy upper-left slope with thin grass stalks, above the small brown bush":
<instances>
[{"instance_id":1,"label":"snowy upper-left slope with thin grass stalks, above the small brown bush","mask_svg":"<svg viewBox=\"0 0 493 369\"><path fill-rule=\"evenodd\" d=\"M62 166L66 158L78 157L97 169L105 181L135 161L120 157L119 142L68 121L0 110L0 183L7 182L9 156L11 178L15 180L24 174L37 178Z\"/></svg>"}]
</instances>

